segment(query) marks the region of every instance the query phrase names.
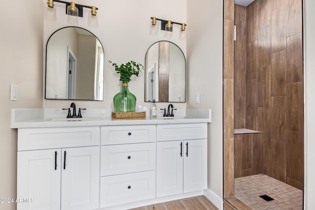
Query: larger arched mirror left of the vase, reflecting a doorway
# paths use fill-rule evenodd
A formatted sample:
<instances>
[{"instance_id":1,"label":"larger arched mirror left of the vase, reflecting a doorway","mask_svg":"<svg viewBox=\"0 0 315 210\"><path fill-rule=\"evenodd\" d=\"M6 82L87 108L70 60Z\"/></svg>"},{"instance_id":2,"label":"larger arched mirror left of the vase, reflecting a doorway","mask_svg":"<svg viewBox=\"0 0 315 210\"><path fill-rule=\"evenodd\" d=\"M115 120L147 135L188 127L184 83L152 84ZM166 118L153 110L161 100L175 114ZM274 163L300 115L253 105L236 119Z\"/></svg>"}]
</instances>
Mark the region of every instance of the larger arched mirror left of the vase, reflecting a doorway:
<instances>
[{"instance_id":1,"label":"larger arched mirror left of the vase, reflecting a doorway","mask_svg":"<svg viewBox=\"0 0 315 210\"><path fill-rule=\"evenodd\" d=\"M46 46L46 99L103 100L104 50L88 30L55 31Z\"/></svg>"}]
</instances>

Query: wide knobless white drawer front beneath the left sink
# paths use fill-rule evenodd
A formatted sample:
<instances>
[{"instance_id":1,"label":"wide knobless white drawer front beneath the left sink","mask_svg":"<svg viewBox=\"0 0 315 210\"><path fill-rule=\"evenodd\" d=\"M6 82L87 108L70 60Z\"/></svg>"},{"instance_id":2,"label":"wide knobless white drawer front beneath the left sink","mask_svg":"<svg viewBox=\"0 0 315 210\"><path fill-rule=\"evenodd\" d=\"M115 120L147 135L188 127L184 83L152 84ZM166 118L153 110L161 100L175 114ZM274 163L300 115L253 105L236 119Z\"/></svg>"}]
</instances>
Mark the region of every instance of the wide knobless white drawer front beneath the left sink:
<instances>
[{"instance_id":1,"label":"wide knobless white drawer front beneath the left sink","mask_svg":"<svg viewBox=\"0 0 315 210\"><path fill-rule=\"evenodd\" d=\"M19 128L18 151L99 145L99 126Z\"/></svg>"}]
</instances>

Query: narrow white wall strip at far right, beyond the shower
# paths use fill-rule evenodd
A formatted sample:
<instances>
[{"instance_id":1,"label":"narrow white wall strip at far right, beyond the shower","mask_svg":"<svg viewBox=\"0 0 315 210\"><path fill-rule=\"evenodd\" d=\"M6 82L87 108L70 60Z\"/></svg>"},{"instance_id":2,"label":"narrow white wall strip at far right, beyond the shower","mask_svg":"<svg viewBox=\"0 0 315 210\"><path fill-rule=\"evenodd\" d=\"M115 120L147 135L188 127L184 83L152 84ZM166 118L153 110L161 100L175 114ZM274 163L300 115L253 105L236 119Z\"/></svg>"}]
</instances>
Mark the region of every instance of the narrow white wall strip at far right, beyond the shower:
<instances>
[{"instance_id":1,"label":"narrow white wall strip at far right, beyond the shower","mask_svg":"<svg viewBox=\"0 0 315 210\"><path fill-rule=\"evenodd\" d=\"M305 59L305 209L315 207L315 1L304 0L304 59Z\"/></svg>"}]
</instances>

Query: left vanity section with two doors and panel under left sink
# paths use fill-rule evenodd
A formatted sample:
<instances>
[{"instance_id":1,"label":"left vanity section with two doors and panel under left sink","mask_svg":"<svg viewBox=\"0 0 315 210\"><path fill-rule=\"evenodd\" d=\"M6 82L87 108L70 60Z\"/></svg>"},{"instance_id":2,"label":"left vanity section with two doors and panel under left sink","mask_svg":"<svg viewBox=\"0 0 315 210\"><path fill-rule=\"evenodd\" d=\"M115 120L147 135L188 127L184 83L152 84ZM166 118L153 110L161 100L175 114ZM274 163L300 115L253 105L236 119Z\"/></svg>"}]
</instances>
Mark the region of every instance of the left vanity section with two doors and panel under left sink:
<instances>
[{"instance_id":1,"label":"left vanity section with two doors and panel under left sink","mask_svg":"<svg viewBox=\"0 0 315 210\"><path fill-rule=\"evenodd\" d=\"M18 210L98 209L99 127L18 129L17 172Z\"/></svg>"}]
</instances>

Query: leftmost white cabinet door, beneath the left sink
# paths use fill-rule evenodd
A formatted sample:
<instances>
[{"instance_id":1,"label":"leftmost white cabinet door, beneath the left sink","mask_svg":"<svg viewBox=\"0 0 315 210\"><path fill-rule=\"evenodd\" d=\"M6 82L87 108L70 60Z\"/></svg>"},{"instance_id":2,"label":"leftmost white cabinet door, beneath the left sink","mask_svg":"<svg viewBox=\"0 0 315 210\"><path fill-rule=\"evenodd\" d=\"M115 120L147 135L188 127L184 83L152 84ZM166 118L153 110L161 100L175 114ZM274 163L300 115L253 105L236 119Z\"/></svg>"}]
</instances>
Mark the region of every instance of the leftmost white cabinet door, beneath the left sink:
<instances>
[{"instance_id":1,"label":"leftmost white cabinet door, beneath the left sink","mask_svg":"<svg viewBox=\"0 0 315 210\"><path fill-rule=\"evenodd\" d=\"M61 150L19 151L17 158L17 210L60 210Z\"/></svg>"}]
</instances>

